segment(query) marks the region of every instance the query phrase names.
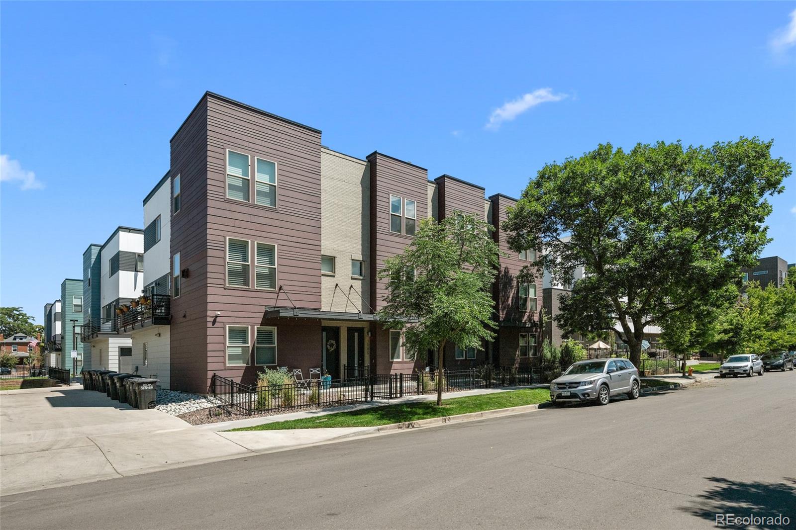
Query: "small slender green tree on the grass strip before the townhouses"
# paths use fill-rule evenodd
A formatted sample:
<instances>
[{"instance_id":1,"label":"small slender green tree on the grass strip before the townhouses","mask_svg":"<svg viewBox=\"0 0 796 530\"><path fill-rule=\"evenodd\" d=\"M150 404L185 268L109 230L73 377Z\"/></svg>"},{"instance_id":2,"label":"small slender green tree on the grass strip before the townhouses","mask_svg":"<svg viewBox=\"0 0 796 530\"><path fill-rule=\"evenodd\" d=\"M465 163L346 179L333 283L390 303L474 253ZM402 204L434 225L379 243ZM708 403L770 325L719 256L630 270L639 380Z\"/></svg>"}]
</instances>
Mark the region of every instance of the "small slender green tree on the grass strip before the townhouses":
<instances>
[{"instance_id":1,"label":"small slender green tree on the grass strip before the townhouses","mask_svg":"<svg viewBox=\"0 0 796 530\"><path fill-rule=\"evenodd\" d=\"M379 271L379 279L388 280L387 305L379 312L384 327L403 329L404 348L415 358L424 359L429 349L438 352L438 406L445 345L478 348L494 339L491 288L499 251L491 230L461 213L439 223L423 220L412 244Z\"/></svg>"}]
</instances>

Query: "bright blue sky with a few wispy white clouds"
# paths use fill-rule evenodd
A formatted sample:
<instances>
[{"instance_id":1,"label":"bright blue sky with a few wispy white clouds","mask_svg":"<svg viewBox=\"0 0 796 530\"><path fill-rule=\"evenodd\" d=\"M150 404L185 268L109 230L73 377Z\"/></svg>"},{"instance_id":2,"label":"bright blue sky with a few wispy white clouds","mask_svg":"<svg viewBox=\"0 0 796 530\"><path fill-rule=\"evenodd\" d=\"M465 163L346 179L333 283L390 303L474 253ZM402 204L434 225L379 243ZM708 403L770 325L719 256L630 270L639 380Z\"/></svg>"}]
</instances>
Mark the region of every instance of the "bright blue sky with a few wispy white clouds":
<instances>
[{"instance_id":1,"label":"bright blue sky with a few wispy white clouds","mask_svg":"<svg viewBox=\"0 0 796 530\"><path fill-rule=\"evenodd\" d=\"M796 10L754 3L2 2L0 305L42 320L168 169L205 90L517 196L600 142L774 138ZM793 12L793 14L791 13ZM796 164L794 164L796 165ZM796 261L796 177L765 255Z\"/></svg>"}]
</instances>

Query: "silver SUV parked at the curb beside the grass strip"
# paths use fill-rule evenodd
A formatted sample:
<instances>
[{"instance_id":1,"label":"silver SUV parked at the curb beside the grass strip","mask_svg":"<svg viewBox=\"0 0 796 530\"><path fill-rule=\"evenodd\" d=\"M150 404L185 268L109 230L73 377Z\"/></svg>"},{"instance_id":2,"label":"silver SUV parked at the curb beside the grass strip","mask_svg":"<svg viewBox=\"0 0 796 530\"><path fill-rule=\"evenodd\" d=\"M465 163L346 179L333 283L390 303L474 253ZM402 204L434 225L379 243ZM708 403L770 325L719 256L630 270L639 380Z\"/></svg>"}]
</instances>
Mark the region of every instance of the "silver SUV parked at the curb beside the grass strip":
<instances>
[{"instance_id":1,"label":"silver SUV parked at the curb beside the grass strip","mask_svg":"<svg viewBox=\"0 0 796 530\"><path fill-rule=\"evenodd\" d=\"M581 360L550 384L550 400L556 406L565 400L593 401L607 405L612 396L638 398L638 370L627 359Z\"/></svg>"}]
</instances>

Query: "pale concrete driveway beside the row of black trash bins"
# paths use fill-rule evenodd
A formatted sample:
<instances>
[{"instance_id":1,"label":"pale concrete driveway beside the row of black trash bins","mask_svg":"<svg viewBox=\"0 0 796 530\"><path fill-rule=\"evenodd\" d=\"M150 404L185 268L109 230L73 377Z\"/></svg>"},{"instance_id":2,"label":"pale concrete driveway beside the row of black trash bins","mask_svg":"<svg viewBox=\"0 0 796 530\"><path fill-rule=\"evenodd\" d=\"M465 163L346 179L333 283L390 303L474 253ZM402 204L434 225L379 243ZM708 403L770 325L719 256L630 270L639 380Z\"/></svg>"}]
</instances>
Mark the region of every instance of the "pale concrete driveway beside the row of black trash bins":
<instances>
[{"instance_id":1,"label":"pale concrete driveway beside the row of black trash bins","mask_svg":"<svg viewBox=\"0 0 796 530\"><path fill-rule=\"evenodd\" d=\"M2 392L0 429L2 495L252 454L165 412L74 385Z\"/></svg>"}]
</instances>

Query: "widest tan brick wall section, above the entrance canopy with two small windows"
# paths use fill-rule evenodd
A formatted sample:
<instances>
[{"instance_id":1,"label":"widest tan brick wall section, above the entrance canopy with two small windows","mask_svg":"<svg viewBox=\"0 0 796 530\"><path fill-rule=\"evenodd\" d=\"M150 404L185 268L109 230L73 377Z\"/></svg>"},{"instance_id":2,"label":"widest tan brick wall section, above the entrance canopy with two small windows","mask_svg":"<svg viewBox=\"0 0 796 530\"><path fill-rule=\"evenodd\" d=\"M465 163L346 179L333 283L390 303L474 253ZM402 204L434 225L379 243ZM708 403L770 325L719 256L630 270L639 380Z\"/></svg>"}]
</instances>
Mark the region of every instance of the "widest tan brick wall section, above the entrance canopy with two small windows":
<instances>
[{"instance_id":1,"label":"widest tan brick wall section, above the entrance canopy with two small windows","mask_svg":"<svg viewBox=\"0 0 796 530\"><path fill-rule=\"evenodd\" d=\"M368 299L371 281L368 277L369 172L368 162L326 148L321 150L321 253L335 259L334 276L321 276L321 309L324 311L372 312ZM352 259L364 262L363 278L352 277ZM335 285L339 288L335 289Z\"/></svg>"}]
</instances>

